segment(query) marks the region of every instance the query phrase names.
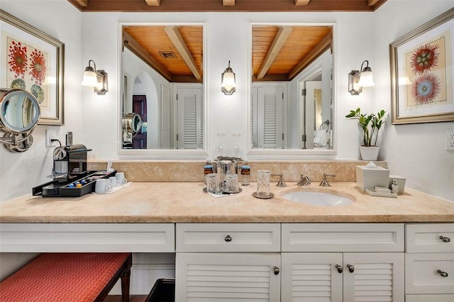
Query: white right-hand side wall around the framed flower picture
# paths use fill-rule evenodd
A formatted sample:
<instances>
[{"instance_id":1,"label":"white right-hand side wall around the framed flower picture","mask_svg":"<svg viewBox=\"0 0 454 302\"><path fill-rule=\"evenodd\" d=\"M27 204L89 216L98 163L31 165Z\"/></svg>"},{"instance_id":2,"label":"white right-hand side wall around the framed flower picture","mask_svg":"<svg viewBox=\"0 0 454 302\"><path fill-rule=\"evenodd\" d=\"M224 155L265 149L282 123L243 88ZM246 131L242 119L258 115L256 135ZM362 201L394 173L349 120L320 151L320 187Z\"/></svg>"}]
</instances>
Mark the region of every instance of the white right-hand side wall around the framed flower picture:
<instances>
[{"instance_id":1,"label":"white right-hand side wall around the framed flower picture","mask_svg":"<svg viewBox=\"0 0 454 302\"><path fill-rule=\"evenodd\" d=\"M391 112L389 43L454 6L453 1L430 2L388 0L375 13L374 112ZM380 157L388 161L392 174L406 177L406 186L454 201L454 152L445 148L447 129L454 129L454 123L391 125L387 121Z\"/></svg>"}]
</instances>

